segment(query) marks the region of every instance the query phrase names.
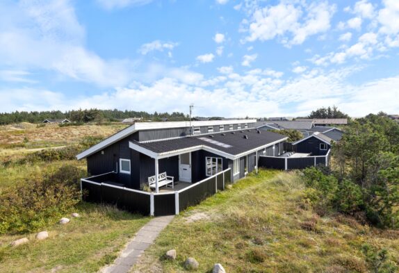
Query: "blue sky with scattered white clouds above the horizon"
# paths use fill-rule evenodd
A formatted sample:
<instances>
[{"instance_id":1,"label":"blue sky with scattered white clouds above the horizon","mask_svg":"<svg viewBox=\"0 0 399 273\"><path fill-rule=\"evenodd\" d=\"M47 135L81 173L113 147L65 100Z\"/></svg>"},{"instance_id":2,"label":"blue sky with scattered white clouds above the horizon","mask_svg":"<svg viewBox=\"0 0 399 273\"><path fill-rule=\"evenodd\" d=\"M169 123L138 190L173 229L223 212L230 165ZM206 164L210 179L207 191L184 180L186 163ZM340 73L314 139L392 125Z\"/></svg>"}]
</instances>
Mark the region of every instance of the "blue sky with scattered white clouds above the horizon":
<instances>
[{"instance_id":1,"label":"blue sky with scattered white clouds above the horizon","mask_svg":"<svg viewBox=\"0 0 399 273\"><path fill-rule=\"evenodd\" d=\"M399 113L399 1L1 0L0 113Z\"/></svg>"}]
</instances>

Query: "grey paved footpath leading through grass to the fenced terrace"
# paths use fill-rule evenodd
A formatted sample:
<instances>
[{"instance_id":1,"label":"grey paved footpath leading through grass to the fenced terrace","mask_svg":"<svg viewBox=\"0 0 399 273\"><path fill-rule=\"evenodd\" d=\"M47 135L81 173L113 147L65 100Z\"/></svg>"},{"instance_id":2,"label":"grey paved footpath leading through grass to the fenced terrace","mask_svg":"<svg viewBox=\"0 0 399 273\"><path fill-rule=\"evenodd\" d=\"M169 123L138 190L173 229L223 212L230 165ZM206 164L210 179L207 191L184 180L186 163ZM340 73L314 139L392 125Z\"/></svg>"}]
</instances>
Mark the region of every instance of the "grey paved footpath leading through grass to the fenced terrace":
<instances>
[{"instance_id":1,"label":"grey paved footpath leading through grass to the fenced terrace","mask_svg":"<svg viewBox=\"0 0 399 273\"><path fill-rule=\"evenodd\" d=\"M138 261L145 249L152 245L158 234L172 221L174 215L155 217L136 233L112 265L101 269L102 273L127 273Z\"/></svg>"}]
</instances>

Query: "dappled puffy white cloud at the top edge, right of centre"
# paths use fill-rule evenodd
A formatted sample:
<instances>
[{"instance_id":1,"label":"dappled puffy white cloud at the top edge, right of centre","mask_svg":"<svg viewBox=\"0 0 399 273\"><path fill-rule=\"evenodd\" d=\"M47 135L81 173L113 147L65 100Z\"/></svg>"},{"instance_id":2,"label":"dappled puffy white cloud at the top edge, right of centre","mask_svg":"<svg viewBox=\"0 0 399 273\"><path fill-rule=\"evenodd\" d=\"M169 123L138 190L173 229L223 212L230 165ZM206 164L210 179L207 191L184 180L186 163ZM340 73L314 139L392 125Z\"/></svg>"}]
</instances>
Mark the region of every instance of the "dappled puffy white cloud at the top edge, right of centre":
<instances>
[{"instance_id":1,"label":"dappled puffy white cloud at the top edge, right of centre","mask_svg":"<svg viewBox=\"0 0 399 273\"><path fill-rule=\"evenodd\" d=\"M280 38L283 44L302 44L309 36L323 33L330 28L335 6L326 1L311 3L309 6L295 6L281 2L276 6L258 8L252 14L250 23L243 21L244 31L249 35L247 42L266 41ZM249 24L247 28L245 25Z\"/></svg>"}]
</instances>

